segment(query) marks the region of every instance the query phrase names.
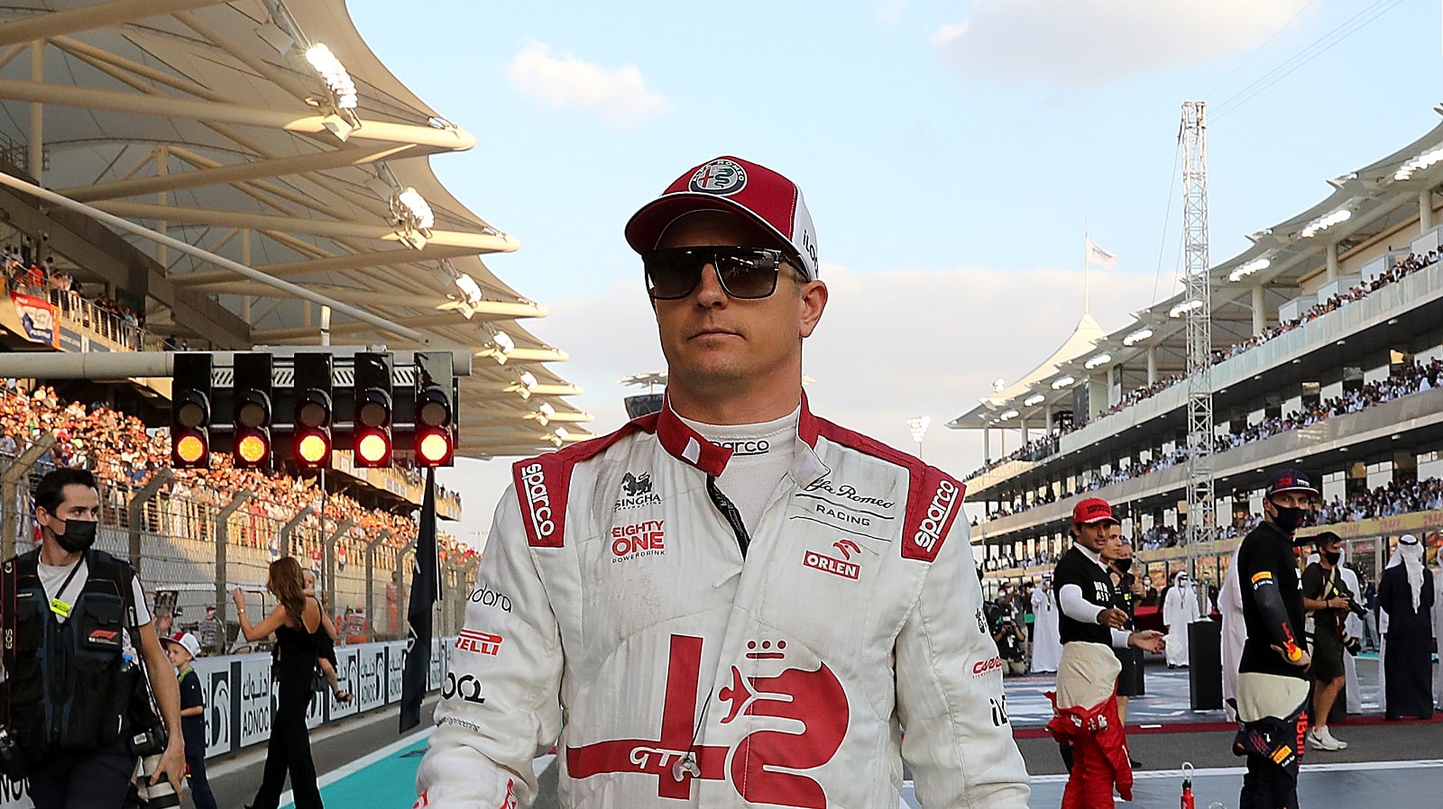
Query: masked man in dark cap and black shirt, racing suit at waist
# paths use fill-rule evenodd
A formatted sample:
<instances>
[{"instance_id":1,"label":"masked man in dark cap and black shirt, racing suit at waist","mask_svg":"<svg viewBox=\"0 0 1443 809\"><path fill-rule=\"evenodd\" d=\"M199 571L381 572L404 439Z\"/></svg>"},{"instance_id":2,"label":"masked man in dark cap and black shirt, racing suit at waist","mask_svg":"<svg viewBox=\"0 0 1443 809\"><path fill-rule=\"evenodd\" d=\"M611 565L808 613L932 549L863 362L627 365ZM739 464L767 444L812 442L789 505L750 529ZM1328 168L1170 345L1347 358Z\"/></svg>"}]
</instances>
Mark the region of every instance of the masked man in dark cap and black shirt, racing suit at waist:
<instances>
[{"instance_id":1,"label":"masked man in dark cap and black shirt, racing suit at waist","mask_svg":"<svg viewBox=\"0 0 1443 809\"><path fill-rule=\"evenodd\" d=\"M1237 756L1245 756L1240 809L1299 809L1297 772L1307 734L1307 668L1303 591L1293 532L1317 489L1300 472L1283 469L1263 498L1266 519L1238 545L1238 585L1247 640L1234 712Z\"/></svg>"}]
</instances>

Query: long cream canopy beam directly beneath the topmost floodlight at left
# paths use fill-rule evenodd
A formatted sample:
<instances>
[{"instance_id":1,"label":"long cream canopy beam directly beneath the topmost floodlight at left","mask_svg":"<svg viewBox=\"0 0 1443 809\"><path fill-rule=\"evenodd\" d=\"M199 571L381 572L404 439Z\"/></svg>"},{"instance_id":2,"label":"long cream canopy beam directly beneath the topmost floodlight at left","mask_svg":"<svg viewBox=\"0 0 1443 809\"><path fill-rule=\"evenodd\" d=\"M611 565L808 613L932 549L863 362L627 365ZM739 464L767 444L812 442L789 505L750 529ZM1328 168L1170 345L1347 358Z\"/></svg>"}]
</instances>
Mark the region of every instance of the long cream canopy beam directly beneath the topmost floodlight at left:
<instances>
[{"instance_id":1,"label":"long cream canopy beam directly beneath the topmost floodlight at left","mask_svg":"<svg viewBox=\"0 0 1443 809\"><path fill-rule=\"evenodd\" d=\"M283 110L263 110L240 104L216 104L212 101L192 101L188 98L91 89L35 81L0 79L0 98L35 104L55 104L59 107L79 107L84 110L105 110L110 112L131 112L136 115L185 118L214 124L270 127L297 134L330 131L326 124L332 127L341 124L351 130L351 125L338 115L296 115ZM434 146L449 151L465 151L476 146L475 136L460 128L418 127L385 121L362 121L359 127L349 131L348 137L352 140Z\"/></svg>"}]
</instances>

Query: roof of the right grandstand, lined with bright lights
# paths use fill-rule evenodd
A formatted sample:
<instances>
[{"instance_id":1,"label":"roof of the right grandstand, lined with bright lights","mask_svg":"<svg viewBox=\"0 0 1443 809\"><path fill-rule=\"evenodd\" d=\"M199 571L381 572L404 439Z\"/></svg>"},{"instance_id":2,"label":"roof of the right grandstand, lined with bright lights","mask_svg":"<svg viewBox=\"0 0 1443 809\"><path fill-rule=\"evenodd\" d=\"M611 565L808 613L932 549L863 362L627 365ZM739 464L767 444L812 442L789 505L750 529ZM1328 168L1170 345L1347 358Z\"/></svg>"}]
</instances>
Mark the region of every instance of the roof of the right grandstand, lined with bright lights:
<instances>
[{"instance_id":1,"label":"roof of the right grandstand, lined with bright lights","mask_svg":"<svg viewBox=\"0 0 1443 809\"><path fill-rule=\"evenodd\" d=\"M1443 114L1443 107L1436 111ZM1381 160L1328 180L1332 193L1326 199L1266 231L1251 234L1251 247L1209 270L1214 350L1227 350L1253 336L1253 313L1258 304L1261 311L1271 313L1266 323L1273 326L1277 323L1278 307L1304 291L1326 297L1332 291L1346 291L1356 283L1356 277L1348 277L1342 280L1339 290L1328 288L1329 265L1333 267L1335 277L1342 278L1338 270L1342 261L1364 251L1408 252L1424 208L1427 221L1439 224L1433 213L1436 200L1429 189L1437 187L1440 182L1443 124ZM1048 362L1006 391L980 398L978 405L947 425L954 430L1012 430L1023 425L1045 430L1048 408L1053 412L1071 411L1074 388L1089 376L1117 368L1124 394L1146 385L1150 349L1156 349L1153 371L1157 379L1185 375L1185 293L1177 293L1134 311L1131 323L1092 337L1091 345L1078 345L1079 326ZM1091 319L1084 316L1084 323L1088 320ZM1003 420L1010 411L1017 412Z\"/></svg>"}]
</instances>

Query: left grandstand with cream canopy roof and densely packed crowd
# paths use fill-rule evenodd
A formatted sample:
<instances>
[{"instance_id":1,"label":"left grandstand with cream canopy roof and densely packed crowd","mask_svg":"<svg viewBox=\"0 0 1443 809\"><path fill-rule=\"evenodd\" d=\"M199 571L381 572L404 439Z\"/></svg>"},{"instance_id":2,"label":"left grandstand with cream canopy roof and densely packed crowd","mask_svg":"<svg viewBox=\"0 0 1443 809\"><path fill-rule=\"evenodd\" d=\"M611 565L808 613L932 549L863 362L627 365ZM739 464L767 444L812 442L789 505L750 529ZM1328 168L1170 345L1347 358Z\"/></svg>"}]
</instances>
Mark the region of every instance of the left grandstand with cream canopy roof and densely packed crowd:
<instances>
[{"instance_id":1,"label":"left grandstand with cream canopy roof and densely packed crowd","mask_svg":"<svg viewBox=\"0 0 1443 809\"><path fill-rule=\"evenodd\" d=\"M476 359L460 381L457 454L589 437L590 415L567 401L580 391L545 365L566 352L519 324L545 307L483 262L519 242L431 172L431 156L476 138L387 71L342 0L19 0L0 10L0 108L4 174L300 287L0 187L0 350L456 348ZM105 487L100 547L139 554L147 587L177 593L180 623L209 604L224 623L227 587L255 585L294 554L325 573L336 613L365 611L374 636L404 633L392 577L414 544L421 473L356 469L346 453L323 483L224 459L172 470L169 397L162 378L4 379L4 555L33 539L26 482L85 466ZM437 512L457 519L459 498L440 490ZM475 555L450 536L442 554L449 588L465 587Z\"/></svg>"}]
</instances>

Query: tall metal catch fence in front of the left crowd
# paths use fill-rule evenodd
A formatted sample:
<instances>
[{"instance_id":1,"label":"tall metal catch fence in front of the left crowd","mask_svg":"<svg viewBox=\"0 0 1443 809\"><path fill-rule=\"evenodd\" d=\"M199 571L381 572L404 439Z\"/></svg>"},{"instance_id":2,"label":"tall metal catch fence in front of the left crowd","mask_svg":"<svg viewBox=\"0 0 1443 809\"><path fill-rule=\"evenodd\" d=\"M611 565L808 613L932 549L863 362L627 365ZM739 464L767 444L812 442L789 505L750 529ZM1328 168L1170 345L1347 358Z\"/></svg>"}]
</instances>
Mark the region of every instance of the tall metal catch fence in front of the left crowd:
<instances>
[{"instance_id":1,"label":"tall metal catch fence in front of the left crowd","mask_svg":"<svg viewBox=\"0 0 1443 809\"><path fill-rule=\"evenodd\" d=\"M0 525L6 557L25 552L38 541L30 490L49 469L33 464L33 459L45 453L43 441L38 441L35 450L22 453L20 459L0 456ZM333 583L329 593L323 590L332 614L346 607L365 610L368 640L405 635L410 567L401 567L403 549L395 547L390 532L377 538L358 536L358 529L345 521L328 516L322 523L316 515L306 515L294 521L290 541L283 547L280 538L289 521L270 516L260 508L263 503L247 495L240 505L229 496L212 505L172 496L160 485L131 490L101 483L101 489L102 516L95 547L136 564L147 593L176 591L176 606L182 610L175 619L177 629L196 624L205 607L214 606L219 626L225 627L218 643L228 649L237 632L237 624L228 620L234 617L231 590L242 587L253 607L273 607L274 598L263 593L270 562L291 555L303 568L316 571L317 581ZM332 541L333 573L326 564L328 539ZM466 600L470 583L462 570L469 574L472 565L466 562L475 558L442 561L446 609L439 613L437 633L460 629L463 613L453 601ZM397 571L403 574L401 587L394 587ZM384 607L378 614L380 606Z\"/></svg>"}]
</instances>

